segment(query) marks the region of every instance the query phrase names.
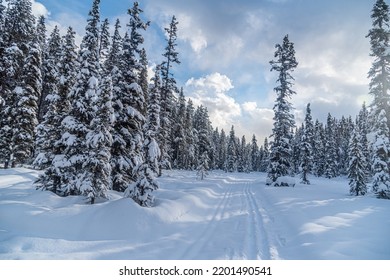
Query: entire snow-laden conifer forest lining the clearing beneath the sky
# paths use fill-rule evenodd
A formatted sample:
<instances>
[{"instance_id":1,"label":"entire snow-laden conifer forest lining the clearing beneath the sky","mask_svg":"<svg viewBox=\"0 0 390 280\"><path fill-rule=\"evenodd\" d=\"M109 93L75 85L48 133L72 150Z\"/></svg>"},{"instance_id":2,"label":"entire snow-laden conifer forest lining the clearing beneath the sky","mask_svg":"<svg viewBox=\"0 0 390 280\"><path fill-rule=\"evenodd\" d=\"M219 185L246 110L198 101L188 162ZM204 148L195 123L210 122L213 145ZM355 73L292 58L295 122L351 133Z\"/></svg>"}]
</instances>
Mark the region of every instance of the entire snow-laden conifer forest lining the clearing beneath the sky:
<instances>
[{"instance_id":1,"label":"entire snow-laden conifer forest lining the clearing beneath the sky","mask_svg":"<svg viewBox=\"0 0 390 280\"><path fill-rule=\"evenodd\" d=\"M7 5L6 5L7 4ZM365 34L373 58L369 92L357 116L302 124L290 99L299 67L288 35L275 45L274 126L269 138L251 139L213 127L205 106L195 107L175 80L175 16L165 28L161 61L148 77L144 32L150 22L138 2L128 22L110 26L94 0L81 45L75 31L47 30L29 0L0 0L0 164L42 170L35 187L59 196L82 195L91 204L108 190L145 207L154 205L164 170L265 172L267 185L291 186L287 177L347 176L353 196L390 198L390 13L384 0ZM369 12L369 11L368 11ZM124 36L120 30L126 29ZM110 32L110 29L113 32ZM299 50L297 50L299 51Z\"/></svg>"}]
</instances>

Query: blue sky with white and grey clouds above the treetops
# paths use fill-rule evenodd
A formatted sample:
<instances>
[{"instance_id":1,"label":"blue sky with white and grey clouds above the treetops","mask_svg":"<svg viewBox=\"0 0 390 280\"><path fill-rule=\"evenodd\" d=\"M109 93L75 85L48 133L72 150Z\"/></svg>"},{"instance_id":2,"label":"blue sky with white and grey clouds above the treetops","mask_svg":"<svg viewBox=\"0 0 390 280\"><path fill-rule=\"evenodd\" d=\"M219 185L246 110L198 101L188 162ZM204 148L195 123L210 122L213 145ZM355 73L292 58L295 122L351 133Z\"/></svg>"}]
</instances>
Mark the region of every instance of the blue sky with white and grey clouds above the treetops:
<instances>
[{"instance_id":1,"label":"blue sky with white and grey clouds above the treetops","mask_svg":"<svg viewBox=\"0 0 390 280\"><path fill-rule=\"evenodd\" d=\"M151 66L165 46L163 28L176 15L181 64L179 86L195 104L208 107L214 127L260 143L271 134L276 76L270 72L275 44L284 35L295 44L299 63L293 73L291 102L301 123L307 103L313 117L325 121L355 116L369 102L367 72L374 0L144 0L145 33ZM35 0L35 13L45 14L48 28L71 25L80 34L92 0ZM101 0L102 17L128 21L128 0Z\"/></svg>"}]
</instances>

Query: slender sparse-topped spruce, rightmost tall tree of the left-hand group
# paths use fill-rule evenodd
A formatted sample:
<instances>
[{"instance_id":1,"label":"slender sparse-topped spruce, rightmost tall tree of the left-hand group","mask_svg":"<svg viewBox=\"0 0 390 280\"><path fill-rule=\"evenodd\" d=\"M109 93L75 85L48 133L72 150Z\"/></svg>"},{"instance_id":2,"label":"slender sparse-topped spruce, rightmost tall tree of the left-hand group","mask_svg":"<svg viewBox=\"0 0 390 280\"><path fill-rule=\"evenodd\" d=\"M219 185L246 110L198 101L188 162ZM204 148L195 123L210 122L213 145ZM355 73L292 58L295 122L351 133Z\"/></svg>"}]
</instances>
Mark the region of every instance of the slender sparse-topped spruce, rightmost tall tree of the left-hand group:
<instances>
[{"instance_id":1,"label":"slender sparse-topped spruce, rightmost tall tree of the left-hand group","mask_svg":"<svg viewBox=\"0 0 390 280\"><path fill-rule=\"evenodd\" d=\"M165 52L163 53L165 59L161 64L161 130L160 137L158 139L161 147L160 170L171 168L170 130L172 129L173 124L172 114L175 104L174 93L179 92L176 86L176 80L172 73L173 65L180 63L178 58L179 54L176 51L177 25L178 21L176 17L173 16L169 27L165 28L167 34L167 46L165 47Z\"/></svg>"}]
</instances>

